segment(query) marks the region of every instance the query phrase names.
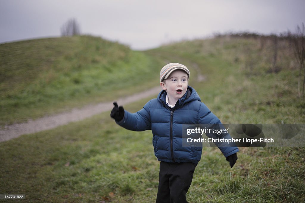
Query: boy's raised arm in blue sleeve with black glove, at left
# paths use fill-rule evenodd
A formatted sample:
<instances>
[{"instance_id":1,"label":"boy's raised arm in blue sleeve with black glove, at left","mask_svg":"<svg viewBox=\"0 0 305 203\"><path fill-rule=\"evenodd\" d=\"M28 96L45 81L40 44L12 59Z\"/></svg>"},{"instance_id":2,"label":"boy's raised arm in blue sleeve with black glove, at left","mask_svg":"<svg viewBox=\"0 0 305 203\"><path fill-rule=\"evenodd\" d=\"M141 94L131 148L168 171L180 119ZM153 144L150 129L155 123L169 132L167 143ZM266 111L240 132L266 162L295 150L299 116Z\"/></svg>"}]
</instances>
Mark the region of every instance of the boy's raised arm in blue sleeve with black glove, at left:
<instances>
[{"instance_id":1,"label":"boy's raised arm in blue sleeve with black glove, at left","mask_svg":"<svg viewBox=\"0 0 305 203\"><path fill-rule=\"evenodd\" d=\"M113 103L115 105L115 107L113 107L114 112L111 111L110 116L115 119L117 124L128 130L132 130L132 131L151 130L149 103L150 101L145 104L143 109L133 114L128 112L127 110L124 110L122 106L120 106L121 109L120 107L117 108L117 106ZM119 112L120 110L121 113L116 114L116 112L117 111ZM120 114L122 115L122 117L120 117L121 119L116 119L115 115L120 115Z\"/></svg>"}]
</instances>

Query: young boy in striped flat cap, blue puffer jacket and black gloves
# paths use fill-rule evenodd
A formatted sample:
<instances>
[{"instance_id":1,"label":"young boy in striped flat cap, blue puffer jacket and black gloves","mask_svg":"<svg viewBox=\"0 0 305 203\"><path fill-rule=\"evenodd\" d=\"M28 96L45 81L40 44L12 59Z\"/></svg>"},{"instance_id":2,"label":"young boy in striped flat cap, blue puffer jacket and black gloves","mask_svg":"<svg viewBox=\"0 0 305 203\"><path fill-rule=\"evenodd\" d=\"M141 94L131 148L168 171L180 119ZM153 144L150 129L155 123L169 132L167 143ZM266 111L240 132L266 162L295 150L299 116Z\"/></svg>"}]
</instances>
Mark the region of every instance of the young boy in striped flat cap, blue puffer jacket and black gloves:
<instances>
[{"instance_id":1,"label":"young boy in striped flat cap, blue puffer jacket and black gloves","mask_svg":"<svg viewBox=\"0 0 305 203\"><path fill-rule=\"evenodd\" d=\"M133 131L152 130L154 152L160 161L156 202L187 202L185 194L192 183L202 148L182 146L182 124L220 124L220 120L188 86L190 72L184 65L170 63L160 72L162 91L142 110L132 114L122 106L110 116L117 124ZM229 136L228 134L225 136ZM219 147L231 168L237 160L237 147Z\"/></svg>"}]
</instances>

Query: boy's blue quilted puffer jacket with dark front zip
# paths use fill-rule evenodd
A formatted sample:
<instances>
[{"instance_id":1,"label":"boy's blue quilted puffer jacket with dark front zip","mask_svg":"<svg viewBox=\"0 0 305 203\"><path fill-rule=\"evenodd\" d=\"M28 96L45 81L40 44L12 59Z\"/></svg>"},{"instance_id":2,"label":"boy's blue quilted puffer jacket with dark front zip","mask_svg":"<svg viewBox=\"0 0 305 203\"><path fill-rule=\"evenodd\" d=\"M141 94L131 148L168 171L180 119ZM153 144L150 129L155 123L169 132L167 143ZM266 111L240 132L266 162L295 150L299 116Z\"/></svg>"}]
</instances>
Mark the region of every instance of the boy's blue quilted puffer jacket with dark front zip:
<instances>
[{"instance_id":1,"label":"boy's blue quilted puffer jacket with dark front zip","mask_svg":"<svg viewBox=\"0 0 305 203\"><path fill-rule=\"evenodd\" d=\"M132 114L125 110L120 126L132 131L152 130L152 143L159 161L193 162L201 159L202 147L182 146L182 124L218 124L220 120L200 101L195 89L188 86L185 95L175 107L165 103L166 91L157 99L145 104L142 110ZM231 138L229 134L224 138ZM237 147L219 147L225 157L238 152Z\"/></svg>"}]
</instances>

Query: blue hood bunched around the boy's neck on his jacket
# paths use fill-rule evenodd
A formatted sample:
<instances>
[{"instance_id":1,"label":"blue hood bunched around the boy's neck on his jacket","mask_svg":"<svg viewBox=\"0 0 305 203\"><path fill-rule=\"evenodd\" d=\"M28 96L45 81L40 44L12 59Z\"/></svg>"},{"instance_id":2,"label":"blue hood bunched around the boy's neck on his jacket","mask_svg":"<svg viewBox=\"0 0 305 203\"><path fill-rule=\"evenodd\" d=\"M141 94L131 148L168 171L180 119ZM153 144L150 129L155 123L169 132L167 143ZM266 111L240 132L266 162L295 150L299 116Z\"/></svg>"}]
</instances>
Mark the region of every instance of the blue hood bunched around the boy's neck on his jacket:
<instances>
[{"instance_id":1,"label":"blue hood bunched around the boy's neck on his jacket","mask_svg":"<svg viewBox=\"0 0 305 203\"><path fill-rule=\"evenodd\" d=\"M165 97L166 97L167 93L165 90L162 90L159 94L158 94L158 101L163 103L163 105L166 105L165 103ZM181 107L184 104L191 102L191 101L201 101L199 95L197 94L196 90L194 88L192 88L191 86L188 86L188 89L186 90L186 93L180 98L178 99L175 107Z\"/></svg>"}]
</instances>

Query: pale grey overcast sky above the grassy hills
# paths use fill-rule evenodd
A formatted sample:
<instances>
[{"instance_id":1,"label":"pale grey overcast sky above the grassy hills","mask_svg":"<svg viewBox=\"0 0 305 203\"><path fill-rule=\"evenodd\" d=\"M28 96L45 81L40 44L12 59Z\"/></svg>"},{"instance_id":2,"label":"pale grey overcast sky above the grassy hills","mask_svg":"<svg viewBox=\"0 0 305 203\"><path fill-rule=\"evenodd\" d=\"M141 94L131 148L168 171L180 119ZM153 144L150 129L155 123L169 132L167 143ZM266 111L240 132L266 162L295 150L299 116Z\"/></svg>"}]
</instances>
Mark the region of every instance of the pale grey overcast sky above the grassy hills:
<instances>
[{"instance_id":1,"label":"pale grey overcast sky above the grassy hills","mask_svg":"<svg viewBox=\"0 0 305 203\"><path fill-rule=\"evenodd\" d=\"M305 0L0 0L0 43L59 37L70 18L82 34L144 50L215 32L294 31Z\"/></svg>"}]
</instances>

